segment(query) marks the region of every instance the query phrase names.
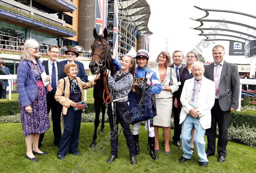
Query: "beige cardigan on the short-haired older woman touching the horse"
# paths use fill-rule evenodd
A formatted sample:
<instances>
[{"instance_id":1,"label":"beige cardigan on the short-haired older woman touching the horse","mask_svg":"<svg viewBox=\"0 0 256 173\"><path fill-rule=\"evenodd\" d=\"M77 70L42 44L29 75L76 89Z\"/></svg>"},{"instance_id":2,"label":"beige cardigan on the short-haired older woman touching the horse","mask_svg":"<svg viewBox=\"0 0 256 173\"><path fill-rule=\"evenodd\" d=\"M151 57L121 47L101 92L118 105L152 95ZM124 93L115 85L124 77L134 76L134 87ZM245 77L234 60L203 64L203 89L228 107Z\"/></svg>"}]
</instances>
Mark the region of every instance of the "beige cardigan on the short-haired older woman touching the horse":
<instances>
[{"instance_id":1,"label":"beige cardigan on the short-haired older woman touching the horse","mask_svg":"<svg viewBox=\"0 0 256 173\"><path fill-rule=\"evenodd\" d=\"M55 100L57 102L59 102L61 105L63 105L62 113L64 115L66 115L67 110L70 107L70 104L71 104L72 100L69 100L69 91L70 91L69 77L66 76L64 79L66 81L65 97L62 96L62 92L63 92L63 88L64 88L63 79L59 80L58 87L57 87L57 90L56 90L56 93L55 93L54 97L55 97ZM91 88L92 86L95 85L95 82L94 82L94 80L90 80L90 82L85 83L85 82L81 81L79 77L76 77L76 80L77 80L77 83L79 84L79 87L80 87L80 90L81 90L81 101L84 101L84 97L83 97L83 91L84 90L83 89L87 90L88 88Z\"/></svg>"}]
</instances>

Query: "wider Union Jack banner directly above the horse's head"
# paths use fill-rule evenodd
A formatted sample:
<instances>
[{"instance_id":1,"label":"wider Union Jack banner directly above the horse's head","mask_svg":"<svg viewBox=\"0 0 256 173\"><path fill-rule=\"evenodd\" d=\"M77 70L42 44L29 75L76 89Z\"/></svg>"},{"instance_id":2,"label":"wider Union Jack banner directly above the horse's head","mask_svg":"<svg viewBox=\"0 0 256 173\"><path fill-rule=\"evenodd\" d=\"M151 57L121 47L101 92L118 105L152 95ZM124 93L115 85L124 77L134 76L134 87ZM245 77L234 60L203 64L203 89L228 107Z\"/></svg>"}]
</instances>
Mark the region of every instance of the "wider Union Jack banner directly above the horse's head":
<instances>
[{"instance_id":1,"label":"wider Union Jack banner directly above the horse's head","mask_svg":"<svg viewBox=\"0 0 256 173\"><path fill-rule=\"evenodd\" d=\"M107 28L108 0L96 1L96 31L103 35L105 27Z\"/></svg>"}]
</instances>

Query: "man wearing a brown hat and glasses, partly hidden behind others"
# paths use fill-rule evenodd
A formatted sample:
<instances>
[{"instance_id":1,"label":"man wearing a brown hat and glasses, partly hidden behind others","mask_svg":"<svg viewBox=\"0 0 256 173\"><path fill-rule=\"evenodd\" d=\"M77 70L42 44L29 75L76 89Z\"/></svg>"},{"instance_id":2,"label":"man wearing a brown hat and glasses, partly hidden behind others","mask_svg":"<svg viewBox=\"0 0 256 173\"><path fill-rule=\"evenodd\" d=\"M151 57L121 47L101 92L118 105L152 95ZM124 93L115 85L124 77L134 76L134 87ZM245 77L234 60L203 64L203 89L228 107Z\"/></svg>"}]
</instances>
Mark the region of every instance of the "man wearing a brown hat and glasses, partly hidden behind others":
<instances>
[{"instance_id":1,"label":"man wearing a brown hat and glasses, partly hidden behind others","mask_svg":"<svg viewBox=\"0 0 256 173\"><path fill-rule=\"evenodd\" d=\"M84 70L84 64L78 61L75 61L75 58L79 56L79 53L76 52L74 47L70 47L68 50L64 52L67 55L67 60L60 61L60 63L66 65L67 63L76 63L78 67L77 77L79 77L82 81L88 82L88 76Z\"/></svg>"}]
</instances>

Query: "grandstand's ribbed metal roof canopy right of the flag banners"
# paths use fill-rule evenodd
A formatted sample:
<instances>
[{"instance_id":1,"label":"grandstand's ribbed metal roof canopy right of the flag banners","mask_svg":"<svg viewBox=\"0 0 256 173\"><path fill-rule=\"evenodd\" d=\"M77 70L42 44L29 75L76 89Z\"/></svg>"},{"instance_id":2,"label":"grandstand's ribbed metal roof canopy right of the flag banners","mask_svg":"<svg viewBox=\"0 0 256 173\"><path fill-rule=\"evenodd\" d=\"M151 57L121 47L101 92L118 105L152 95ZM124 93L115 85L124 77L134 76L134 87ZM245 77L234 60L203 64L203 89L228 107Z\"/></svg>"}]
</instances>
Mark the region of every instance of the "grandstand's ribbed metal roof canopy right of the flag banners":
<instances>
[{"instance_id":1,"label":"grandstand's ribbed metal roof canopy right of the flag banners","mask_svg":"<svg viewBox=\"0 0 256 173\"><path fill-rule=\"evenodd\" d=\"M150 6L146 0L120 0L119 23L130 32L151 35L148 29Z\"/></svg>"}]
</instances>

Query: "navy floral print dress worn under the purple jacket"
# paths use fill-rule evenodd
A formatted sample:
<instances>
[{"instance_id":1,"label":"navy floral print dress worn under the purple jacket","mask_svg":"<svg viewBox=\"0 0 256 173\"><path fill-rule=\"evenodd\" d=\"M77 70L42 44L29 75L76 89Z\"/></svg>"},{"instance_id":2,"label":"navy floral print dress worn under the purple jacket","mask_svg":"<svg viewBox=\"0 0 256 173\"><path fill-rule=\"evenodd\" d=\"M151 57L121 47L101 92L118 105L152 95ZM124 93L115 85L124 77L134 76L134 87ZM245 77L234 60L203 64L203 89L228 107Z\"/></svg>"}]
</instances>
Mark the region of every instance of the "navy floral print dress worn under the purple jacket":
<instances>
[{"instance_id":1,"label":"navy floral print dress worn under the purple jacket","mask_svg":"<svg viewBox=\"0 0 256 173\"><path fill-rule=\"evenodd\" d=\"M42 70L38 63L35 64L31 60L31 66L34 71L36 81L42 80ZM31 133L44 133L50 128L50 122L47 114L46 91L45 87L37 87L37 95L31 105L32 113L29 114L25 107L20 104L20 118L23 129L23 136L28 136Z\"/></svg>"}]
</instances>

